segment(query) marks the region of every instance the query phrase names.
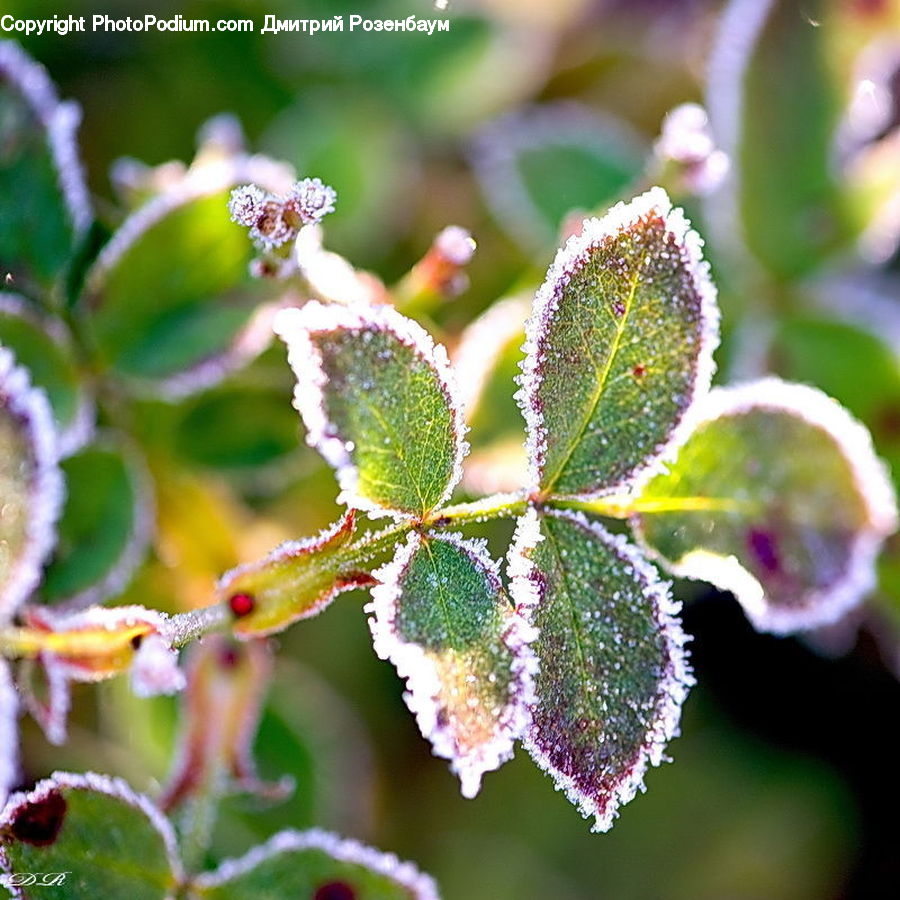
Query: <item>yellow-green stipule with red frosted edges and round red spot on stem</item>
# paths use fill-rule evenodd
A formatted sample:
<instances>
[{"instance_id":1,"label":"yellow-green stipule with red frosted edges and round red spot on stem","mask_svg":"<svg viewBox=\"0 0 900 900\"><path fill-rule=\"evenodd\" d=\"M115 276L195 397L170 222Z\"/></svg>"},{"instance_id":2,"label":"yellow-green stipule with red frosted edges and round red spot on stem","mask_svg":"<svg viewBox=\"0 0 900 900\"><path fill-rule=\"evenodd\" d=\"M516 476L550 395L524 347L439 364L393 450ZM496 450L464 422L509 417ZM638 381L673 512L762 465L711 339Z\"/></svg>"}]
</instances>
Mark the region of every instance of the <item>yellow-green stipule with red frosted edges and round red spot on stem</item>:
<instances>
[{"instance_id":1,"label":"yellow-green stipule with red frosted edges and round red spot on stem","mask_svg":"<svg viewBox=\"0 0 900 900\"><path fill-rule=\"evenodd\" d=\"M216 593L234 615L241 638L283 631L315 616L338 594L372 584L344 549L353 536L353 510L314 538L287 541L264 559L226 572Z\"/></svg>"}]
</instances>

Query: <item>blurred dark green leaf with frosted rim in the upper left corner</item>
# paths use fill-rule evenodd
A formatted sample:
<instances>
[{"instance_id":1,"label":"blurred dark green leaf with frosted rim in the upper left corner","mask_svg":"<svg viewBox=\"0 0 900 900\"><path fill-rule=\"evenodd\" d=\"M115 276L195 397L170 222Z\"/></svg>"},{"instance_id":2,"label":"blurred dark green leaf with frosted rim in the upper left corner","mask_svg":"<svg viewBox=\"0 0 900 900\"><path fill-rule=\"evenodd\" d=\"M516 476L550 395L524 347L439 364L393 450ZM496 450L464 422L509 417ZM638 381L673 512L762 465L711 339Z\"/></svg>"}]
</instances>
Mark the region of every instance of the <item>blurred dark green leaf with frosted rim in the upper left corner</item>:
<instances>
[{"instance_id":1,"label":"blurred dark green leaf with frosted rim in the upper left corner","mask_svg":"<svg viewBox=\"0 0 900 900\"><path fill-rule=\"evenodd\" d=\"M0 274L26 290L51 288L91 223L75 130L43 66L0 41Z\"/></svg>"}]
</instances>

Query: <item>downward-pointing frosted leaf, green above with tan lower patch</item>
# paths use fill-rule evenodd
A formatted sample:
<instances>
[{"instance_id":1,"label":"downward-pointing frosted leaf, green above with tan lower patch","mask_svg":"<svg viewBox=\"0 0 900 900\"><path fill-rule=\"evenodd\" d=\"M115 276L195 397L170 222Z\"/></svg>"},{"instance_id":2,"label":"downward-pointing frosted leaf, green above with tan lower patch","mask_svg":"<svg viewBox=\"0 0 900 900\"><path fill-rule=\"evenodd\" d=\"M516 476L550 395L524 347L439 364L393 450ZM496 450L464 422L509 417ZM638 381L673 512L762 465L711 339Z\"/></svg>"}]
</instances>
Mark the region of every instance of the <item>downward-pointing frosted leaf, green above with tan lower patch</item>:
<instances>
[{"instance_id":1,"label":"downward-pointing frosted leaf, green above with tan lower patch","mask_svg":"<svg viewBox=\"0 0 900 900\"><path fill-rule=\"evenodd\" d=\"M406 679L419 729L474 797L525 727L534 634L478 542L413 532L375 577L375 652Z\"/></svg>"}]
</instances>

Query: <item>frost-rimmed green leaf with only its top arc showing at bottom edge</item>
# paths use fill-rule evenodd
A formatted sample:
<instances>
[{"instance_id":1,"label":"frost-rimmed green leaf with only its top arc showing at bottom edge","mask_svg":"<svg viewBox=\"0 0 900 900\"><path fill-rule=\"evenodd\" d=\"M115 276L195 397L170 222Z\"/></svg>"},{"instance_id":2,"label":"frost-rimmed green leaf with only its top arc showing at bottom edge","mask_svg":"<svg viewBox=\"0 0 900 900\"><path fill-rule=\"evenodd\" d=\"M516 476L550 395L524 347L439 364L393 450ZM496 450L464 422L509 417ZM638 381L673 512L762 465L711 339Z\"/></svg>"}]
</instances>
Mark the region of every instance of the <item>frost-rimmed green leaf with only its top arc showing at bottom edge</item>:
<instances>
[{"instance_id":1,"label":"frost-rimmed green leaf with only its top arc showing at bottom edge","mask_svg":"<svg viewBox=\"0 0 900 900\"><path fill-rule=\"evenodd\" d=\"M438 900L412 863L326 831L282 831L240 859L199 876L191 900Z\"/></svg>"}]
</instances>

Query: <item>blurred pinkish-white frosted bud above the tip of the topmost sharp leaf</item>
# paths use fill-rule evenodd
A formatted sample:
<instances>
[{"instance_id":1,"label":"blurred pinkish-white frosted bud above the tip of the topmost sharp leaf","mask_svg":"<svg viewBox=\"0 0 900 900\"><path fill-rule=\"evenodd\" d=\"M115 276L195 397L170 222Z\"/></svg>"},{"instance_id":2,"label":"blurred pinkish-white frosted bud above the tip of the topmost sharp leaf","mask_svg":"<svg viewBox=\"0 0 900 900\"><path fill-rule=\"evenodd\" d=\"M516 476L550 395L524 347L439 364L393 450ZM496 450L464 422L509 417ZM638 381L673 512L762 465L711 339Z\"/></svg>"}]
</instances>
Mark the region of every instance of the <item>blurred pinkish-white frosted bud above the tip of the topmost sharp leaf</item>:
<instances>
[{"instance_id":1,"label":"blurred pinkish-white frosted bud above the tip of the topmost sharp leaf","mask_svg":"<svg viewBox=\"0 0 900 900\"><path fill-rule=\"evenodd\" d=\"M696 103L668 113L654 150L663 165L674 165L679 186L692 194L711 193L728 172L728 157L716 148L706 110Z\"/></svg>"}]
</instances>

